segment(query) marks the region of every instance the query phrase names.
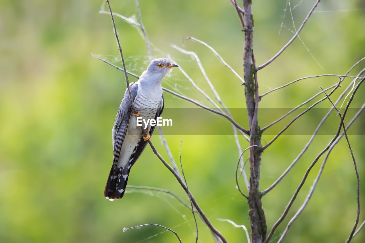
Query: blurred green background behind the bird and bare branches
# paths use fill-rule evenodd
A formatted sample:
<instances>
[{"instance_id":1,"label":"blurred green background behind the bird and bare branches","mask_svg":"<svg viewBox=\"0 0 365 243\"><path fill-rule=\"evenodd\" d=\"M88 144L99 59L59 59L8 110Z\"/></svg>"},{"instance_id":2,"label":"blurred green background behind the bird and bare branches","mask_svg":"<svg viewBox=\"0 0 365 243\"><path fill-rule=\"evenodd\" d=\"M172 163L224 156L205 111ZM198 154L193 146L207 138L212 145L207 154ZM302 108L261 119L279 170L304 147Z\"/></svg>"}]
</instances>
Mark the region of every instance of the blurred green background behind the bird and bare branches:
<instances>
[{"instance_id":1,"label":"blurred green background behind the bird and bare branches","mask_svg":"<svg viewBox=\"0 0 365 243\"><path fill-rule=\"evenodd\" d=\"M314 2L291 0L296 28ZM114 12L137 16L132 0L111 0L111 4ZM212 92L196 62L170 44L182 46L181 40L186 36L204 40L242 74L243 32L229 0L140 0L140 5L154 46L153 56L170 54L209 95ZM100 9L107 9L101 0L0 1L0 242L177 242L173 234L157 227L123 233L124 227L146 223L177 231L183 242L195 239L191 212L165 193L128 189L119 201L110 202L103 197L112 163L111 128L126 85L122 72L91 56L95 53L121 66L110 16L98 13ZM254 51L259 65L293 36L291 31L295 29L288 9L286 0L253 1ZM305 45L297 38L258 74L260 93L299 77L346 73L365 56L364 13L361 0L321 1L300 34ZM128 69L141 74L148 57L139 30L117 17L116 25ZM211 51L191 41L186 41L183 48L197 52L228 107L245 107L240 81ZM364 65L361 63L351 74L356 75ZM324 77L299 82L266 96L260 107L295 107L318 93L319 86L337 81L336 77ZM349 82L346 79L334 97ZM163 85L209 105L179 70L165 78ZM352 108L362 105L364 91L364 87L358 90ZM195 106L165 93L165 107ZM331 105L325 101L318 107ZM246 113L241 116L237 119L245 119ZM270 121L266 117L259 122L264 126ZM338 117L333 117L328 122L338 121ZM204 127L205 122L197 120L195 126ZM228 122L224 125L230 126ZM351 129L361 130L363 125L358 121ZM263 143L272 137L263 136ZM309 138L283 135L265 150L261 190L276 180ZM308 165L331 138L332 135L317 136L287 177L263 197L269 228L283 213ZM231 219L247 228L250 225L247 203L235 188L238 152L233 136L168 135L166 140L176 161L181 139L185 175L197 202L229 242L245 242L242 228L218 220ZM157 133L152 141L167 159ZM350 141L360 179L364 180L364 136L352 135ZM241 147L247 146L241 139ZM302 204L319 163L272 242L276 242ZM243 180L240 183L243 188ZM128 184L168 189L188 202L173 175L149 147L133 167ZM365 208L362 188L360 200ZM355 217L356 177L345 140L341 140L330 155L314 196L285 241L343 242ZM201 220L198 225L199 242L212 242ZM353 240L364 241L364 231Z\"/></svg>"}]
</instances>

